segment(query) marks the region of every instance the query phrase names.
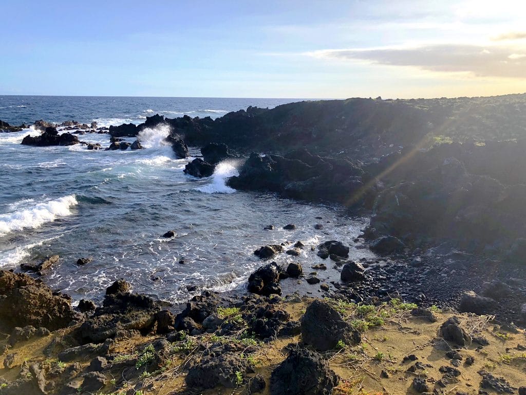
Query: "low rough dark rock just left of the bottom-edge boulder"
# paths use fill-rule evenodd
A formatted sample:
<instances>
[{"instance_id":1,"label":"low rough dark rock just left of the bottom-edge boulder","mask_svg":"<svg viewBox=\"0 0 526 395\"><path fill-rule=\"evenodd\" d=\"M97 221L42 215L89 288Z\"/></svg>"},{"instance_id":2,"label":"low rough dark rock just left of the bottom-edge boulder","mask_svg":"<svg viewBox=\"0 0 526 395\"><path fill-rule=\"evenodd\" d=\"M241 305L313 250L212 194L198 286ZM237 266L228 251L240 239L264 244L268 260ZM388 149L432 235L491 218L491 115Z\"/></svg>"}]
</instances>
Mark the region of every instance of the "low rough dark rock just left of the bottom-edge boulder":
<instances>
[{"instance_id":1,"label":"low rough dark rock just left of the bottom-edge boulder","mask_svg":"<svg viewBox=\"0 0 526 395\"><path fill-rule=\"evenodd\" d=\"M218 384L235 388L238 385L237 374L245 377L249 371L250 363L236 353L211 353L191 363L185 381L190 388L209 389Z\"/></svg>"}]
</instances>

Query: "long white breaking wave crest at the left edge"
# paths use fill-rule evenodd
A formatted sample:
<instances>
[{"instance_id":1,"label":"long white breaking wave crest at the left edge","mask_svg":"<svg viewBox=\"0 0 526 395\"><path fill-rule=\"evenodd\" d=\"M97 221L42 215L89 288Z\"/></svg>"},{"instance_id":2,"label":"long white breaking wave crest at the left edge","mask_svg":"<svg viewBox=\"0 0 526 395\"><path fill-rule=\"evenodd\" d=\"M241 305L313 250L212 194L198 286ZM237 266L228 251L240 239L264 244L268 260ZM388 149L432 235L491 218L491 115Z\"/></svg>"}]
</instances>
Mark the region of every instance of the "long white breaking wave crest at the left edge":
<instances>
[{"instance_id":1,"label":"long white breaking wave crest at the left edge","mask_svg":"<svg viewBox=\"0 0 526 395\"><path fill-rule=\"evenodd\" d=\"M38 228L46 222L55 221L57 217L72 214L70 209L75 205L77 205L75 195L67 195L45 203L38 203L31 209L0 214L0 234Z\"/></svg>"}]
</instances>

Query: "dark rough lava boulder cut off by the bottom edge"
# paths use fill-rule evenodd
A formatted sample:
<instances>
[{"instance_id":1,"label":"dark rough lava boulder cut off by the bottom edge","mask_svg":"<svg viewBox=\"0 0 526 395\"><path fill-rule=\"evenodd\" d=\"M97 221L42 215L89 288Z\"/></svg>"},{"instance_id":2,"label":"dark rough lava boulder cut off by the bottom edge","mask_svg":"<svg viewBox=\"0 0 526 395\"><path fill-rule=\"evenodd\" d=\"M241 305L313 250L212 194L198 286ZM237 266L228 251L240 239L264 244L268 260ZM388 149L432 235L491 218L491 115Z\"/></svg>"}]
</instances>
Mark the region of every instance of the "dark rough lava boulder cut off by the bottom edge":
<instances>
[{"instance_id":1,"label":"dark rough lava boulder cut off by the bottom edge","mask_svg":"<svg viewBox=\"0 0 526 395\"><path fill-rule=\"evenodd\" d=\"M271 395L330 395L339 378L315 351L292 350L270 377Z\"/></svg>"}]
</instances>

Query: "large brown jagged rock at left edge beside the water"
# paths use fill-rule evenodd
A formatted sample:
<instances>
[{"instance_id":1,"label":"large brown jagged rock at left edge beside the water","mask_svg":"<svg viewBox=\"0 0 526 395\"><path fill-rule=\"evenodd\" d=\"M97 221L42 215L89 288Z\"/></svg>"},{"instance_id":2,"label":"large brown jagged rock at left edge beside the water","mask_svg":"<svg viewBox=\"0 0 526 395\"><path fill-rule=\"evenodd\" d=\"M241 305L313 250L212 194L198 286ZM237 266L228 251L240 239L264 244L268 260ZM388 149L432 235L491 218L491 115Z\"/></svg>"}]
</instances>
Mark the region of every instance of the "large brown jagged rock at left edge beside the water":
<instances>
[{"instance_id":1,"label":"large brown jagged rock at left edge beside the water","mask_svg":"<svg viewBox=\"0 0 526 395\"><path fill-rule=\"evenodd\" d=\"M0 330L66 327L74 317L69 300L26 274L0 271Z\"/></svg>"}]
</instances>

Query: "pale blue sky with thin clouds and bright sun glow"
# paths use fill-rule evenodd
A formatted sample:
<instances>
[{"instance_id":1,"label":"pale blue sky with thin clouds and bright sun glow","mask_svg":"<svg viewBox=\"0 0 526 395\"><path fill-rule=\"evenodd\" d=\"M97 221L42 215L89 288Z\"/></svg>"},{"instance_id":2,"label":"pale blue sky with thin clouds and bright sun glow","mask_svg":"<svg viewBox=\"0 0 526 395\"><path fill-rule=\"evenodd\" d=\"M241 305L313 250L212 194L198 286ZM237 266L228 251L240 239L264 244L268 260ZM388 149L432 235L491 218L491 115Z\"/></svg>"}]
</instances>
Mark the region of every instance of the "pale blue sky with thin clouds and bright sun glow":
<instances>
[{"instance_id":1,"label":"pale blue sky with thin clouds and bright sun glow","mask_svg":"<svg viewBox=\"0 0 526 395\"><path fill-rule=\"evenodd\" d=\"M0 0L0 94L526 92L526 2Z\"/></svg>"}]
</instances>

